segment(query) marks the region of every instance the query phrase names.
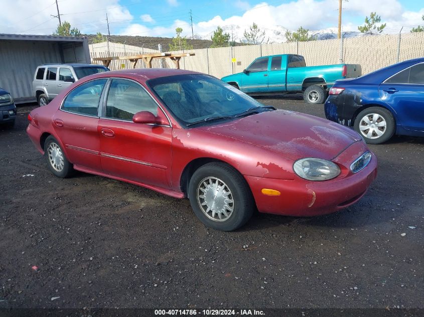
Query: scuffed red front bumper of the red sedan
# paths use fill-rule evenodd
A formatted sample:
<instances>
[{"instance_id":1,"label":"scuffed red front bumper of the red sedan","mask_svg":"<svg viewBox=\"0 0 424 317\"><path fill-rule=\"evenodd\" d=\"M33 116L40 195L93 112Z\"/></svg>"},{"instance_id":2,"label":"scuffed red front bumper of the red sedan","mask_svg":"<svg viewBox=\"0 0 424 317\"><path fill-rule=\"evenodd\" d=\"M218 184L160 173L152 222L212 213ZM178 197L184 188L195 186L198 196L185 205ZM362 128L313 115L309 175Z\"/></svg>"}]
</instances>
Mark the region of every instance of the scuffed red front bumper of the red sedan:
<instances>
[{"instance_id":1,"label":"scuffed red front bumper of the red sedan","mask_svg":"<svg viewBox=\"0 0 424 317\"><path fill-rule=\"evenodd\" d=\"M366 150L362 142L356 143L360 144L352 145L333 161L339 163L339 166L340 161L345 161L343 165L349 166L348 162L353 162L353 157L360 156L364 153L364 149ZM342 173L328 181L308 181L298 176L295 180L253 176L245 176L245 179L260 212L289 216L316 216L346 208L361 199L377 176L377 157L372 154L369 164L355 174L344 167L341 168ZM281 194L267 196L262 194L262 188L275 189Z\"/></svg>"}]
</instances>

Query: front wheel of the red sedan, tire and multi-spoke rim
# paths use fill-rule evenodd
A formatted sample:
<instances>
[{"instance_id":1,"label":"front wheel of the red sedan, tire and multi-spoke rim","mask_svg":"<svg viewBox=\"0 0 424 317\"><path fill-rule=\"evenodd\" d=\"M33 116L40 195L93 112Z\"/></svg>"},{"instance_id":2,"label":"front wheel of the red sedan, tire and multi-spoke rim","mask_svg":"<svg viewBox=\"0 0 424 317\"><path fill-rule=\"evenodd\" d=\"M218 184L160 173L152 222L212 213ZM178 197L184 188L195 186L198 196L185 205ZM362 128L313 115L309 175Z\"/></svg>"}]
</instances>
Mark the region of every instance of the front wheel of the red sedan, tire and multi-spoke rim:
<instances>
[{"instance_id":1,"label":"front wheel of the red sedan, tire and multi-spoke rim","mask_svg":"<svg viewBox=\"0 0 424 317\"><path fill-rule=\"evenodd\" d=\"M190 179L188 195L200 221L221 231L240 228L256 209L246 180L224 163L208 163L197 169Z\"/></svg>"}]
</instances>

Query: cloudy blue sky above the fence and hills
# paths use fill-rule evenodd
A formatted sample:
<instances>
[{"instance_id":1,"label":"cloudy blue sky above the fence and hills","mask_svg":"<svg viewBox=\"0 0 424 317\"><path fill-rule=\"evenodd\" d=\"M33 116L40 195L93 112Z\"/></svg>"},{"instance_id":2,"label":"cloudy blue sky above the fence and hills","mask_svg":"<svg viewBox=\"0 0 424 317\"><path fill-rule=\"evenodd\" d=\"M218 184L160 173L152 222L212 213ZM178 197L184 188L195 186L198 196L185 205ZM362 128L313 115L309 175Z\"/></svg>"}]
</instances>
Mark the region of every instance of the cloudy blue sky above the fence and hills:
<instances>
[{"instance_id":1,"label":"cloudy blue sky above the fence and hills","mask_svg":"<svg viewBox=\"0 0 424 317\"><path fill-rule=\"evenodd\" d=\"M190 10L194 34L207 36L218 26L247 28L255 22L261 28L299 27L317 31L337 28L338 0L58 0L61 20L83 34L107 35L106 14L111 35L173 37L181 27L191 37ZM377 12L387 26L384 33L403 33L424 25L423 0L343 1L342 29L357 31L365 16ZM58 25L54 0L0 0L0 33L45 34Z\"/></svg>"}]
</instances>

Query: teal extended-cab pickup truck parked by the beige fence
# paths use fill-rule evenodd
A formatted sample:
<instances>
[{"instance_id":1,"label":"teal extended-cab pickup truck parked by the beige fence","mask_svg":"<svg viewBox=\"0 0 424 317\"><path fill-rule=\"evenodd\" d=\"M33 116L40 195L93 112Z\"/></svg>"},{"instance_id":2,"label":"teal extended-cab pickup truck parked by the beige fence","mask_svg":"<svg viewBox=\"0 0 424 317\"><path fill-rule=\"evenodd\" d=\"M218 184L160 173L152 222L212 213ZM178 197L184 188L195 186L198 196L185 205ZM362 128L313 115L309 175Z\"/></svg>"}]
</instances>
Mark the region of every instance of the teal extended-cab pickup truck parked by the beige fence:
<instances>
[{"instance_id":1,"label":"teal extended-cab pickup truck parked by the beige fence","mask_svg":"<svg viewBox=\"0 0 424 317\"><path fill-rule=\"evenodd\" d=\"M322 104L336 80L361 76L361 66L339 64L306 67L303 56L272 55L255 59L243 73L221 78L249 95L303 93L309 104Z\"/></svg>"}]
</instances>

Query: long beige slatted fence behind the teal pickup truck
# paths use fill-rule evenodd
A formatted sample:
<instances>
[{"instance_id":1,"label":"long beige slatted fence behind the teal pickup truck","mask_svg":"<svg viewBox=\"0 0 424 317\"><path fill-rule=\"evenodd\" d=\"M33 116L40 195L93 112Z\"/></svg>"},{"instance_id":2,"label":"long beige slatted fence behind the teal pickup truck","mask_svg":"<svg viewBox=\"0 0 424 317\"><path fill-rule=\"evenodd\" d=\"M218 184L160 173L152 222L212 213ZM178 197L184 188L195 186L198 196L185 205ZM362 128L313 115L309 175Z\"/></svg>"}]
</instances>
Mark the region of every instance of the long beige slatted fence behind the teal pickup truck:
<instances>
[{"instance_id":1,"label":"long beige slatted fence behind the teal pickup truck","mask_svg":"<svg viewBox=\"0 0 424 317\"><path fill-rule=\"evenodd\" d=\"M182 58L180 67L221 78L242 72L260 56L299 54L305 57L307 66L340 64L343 59L343 63L360 64L362 74L367 74L396 63L398 39L398 35L381 35L344 39L343 43L342 40L322 40L191 50L190 52L196 55ZM118 51L118 46L114 49L115 52L121 52ZM90 51L92 50L90 45ZM98 52L97 49L96 52ZM187 53L187 51L184 52ZM183 53L183 51L173 53ZM399 62L418 57L424 57L424 32L402 34ZM236 59L233 65L231 58ZM237 65L237 62L240 65ZM169 59L165 59L165 66L175 68L174 63Z\"/></svg>"}]
</instances>

